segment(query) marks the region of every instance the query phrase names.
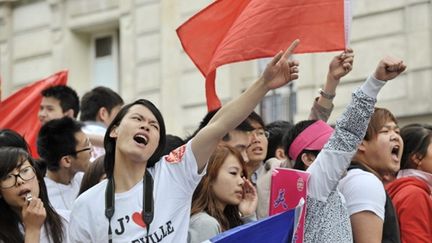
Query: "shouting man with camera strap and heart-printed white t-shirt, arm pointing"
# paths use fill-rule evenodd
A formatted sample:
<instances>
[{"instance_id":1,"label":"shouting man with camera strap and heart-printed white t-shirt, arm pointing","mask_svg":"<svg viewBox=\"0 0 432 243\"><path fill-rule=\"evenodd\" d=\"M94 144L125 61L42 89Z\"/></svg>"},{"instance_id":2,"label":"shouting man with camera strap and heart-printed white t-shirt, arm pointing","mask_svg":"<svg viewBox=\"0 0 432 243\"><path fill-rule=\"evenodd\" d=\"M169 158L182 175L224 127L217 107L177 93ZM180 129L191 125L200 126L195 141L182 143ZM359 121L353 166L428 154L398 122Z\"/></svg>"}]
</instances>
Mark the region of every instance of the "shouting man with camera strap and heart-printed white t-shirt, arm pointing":
<instances>
[{"instance_id":1,"label":"shouting man with camera strap and heart-printed white t-shirt, arm pointing","mask_svg":"<svg viewBox=\"0 0 432 243\"><path fill-rule=\"evenodd\" d=\"M186 145L161 159L165 125L159 110L143 99L124 106L107 129L108 179L76 200L71 242L186 242L192 194L210 155L269 90L298 78L298 62L289 60L297 44L279 53L260 79L224 105ZM143 196L151 188L148 174L154 179L153 198ZM146 215L153 217L142 217L144 203L152 200L154 210Z\"/></svg>"}]
</instances>

